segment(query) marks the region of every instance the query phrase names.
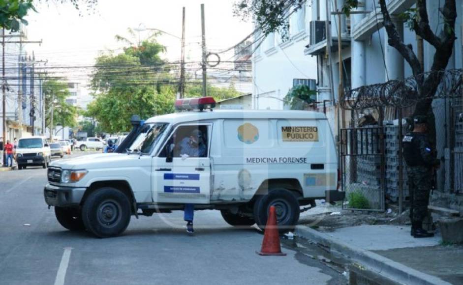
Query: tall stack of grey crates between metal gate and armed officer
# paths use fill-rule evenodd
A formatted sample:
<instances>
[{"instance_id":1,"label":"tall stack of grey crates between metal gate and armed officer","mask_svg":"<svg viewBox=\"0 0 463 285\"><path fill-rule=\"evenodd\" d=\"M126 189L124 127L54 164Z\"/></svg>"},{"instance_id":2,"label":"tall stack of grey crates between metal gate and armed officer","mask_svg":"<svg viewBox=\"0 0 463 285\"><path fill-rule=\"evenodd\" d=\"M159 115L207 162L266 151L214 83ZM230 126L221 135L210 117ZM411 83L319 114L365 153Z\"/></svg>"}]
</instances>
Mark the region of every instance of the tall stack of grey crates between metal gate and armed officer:
<instances>
[{"instance_id":1,"label":"tall stack of grey crates between metal gate and armed officer","mask_svg":"<svg viewBox=\"0 0 463 285\"><path fill-rule=\"evenodd\" d=\"M398 125L385 125L385 162L386 162L386 197L396 202L399 199L399 137ZM406 125L402 125L402 135L407 132ZM408 179L405 160L402 159L402 189L403 198L408 197Z\"/></svg>"}]
</instances>

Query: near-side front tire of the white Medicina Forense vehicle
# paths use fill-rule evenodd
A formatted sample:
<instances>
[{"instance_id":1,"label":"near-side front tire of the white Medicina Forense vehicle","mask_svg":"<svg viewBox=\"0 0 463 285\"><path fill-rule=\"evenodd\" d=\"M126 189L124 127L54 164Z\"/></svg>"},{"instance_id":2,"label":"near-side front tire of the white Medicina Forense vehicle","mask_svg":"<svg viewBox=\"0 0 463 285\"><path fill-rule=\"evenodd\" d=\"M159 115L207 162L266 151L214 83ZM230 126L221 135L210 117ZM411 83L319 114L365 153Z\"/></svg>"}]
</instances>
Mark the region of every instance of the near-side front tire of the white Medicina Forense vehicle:
<instances>
[{"instance_id":1,"label":"near-side front tire of the white Medicina Forense vehicle","mask_svg":"<svg viewBox=\"0 0 463 285\"><path fill-rule=\"evenodd\" d=\"M118 236L130 222L130 201L120 190L103 187L93 191L84 201L82 220L96 237Z\"/></svg>"}]
</instances>

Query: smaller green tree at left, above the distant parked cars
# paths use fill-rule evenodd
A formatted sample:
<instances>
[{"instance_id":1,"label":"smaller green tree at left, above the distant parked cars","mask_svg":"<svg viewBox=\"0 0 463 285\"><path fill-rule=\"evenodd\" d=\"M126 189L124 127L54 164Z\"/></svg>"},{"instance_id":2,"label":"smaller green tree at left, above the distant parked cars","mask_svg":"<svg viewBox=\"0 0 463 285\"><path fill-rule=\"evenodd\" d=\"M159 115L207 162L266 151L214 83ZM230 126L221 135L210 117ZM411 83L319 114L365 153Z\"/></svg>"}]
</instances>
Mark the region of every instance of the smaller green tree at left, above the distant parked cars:
<instances>
[{"instance_id":1,"label":"smaller green tree at left, above the distant parked cars","mask_svg":"<svg viewBox=\"0 0 463 285\"><path fill-rule=\"evenodd\" d=\"M67 83L56 80L46 79L43 82L43 94L45 95L45 125L50 130L55 126L74 127L77 125L77 109L66 103L66 98L71 94L67 88Z\"/></svg>"}]
</instances>

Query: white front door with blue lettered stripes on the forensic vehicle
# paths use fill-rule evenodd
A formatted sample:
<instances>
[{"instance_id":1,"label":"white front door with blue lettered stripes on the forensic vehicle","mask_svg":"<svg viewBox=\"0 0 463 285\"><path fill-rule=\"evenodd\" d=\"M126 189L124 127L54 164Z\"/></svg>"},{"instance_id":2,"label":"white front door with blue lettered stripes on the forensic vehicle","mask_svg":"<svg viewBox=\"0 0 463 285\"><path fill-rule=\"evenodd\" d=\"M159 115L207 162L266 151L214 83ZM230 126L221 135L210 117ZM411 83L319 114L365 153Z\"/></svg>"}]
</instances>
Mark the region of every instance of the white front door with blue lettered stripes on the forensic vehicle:
<instances>
[{"instance_id":1,"label":"white front door with blue lettered stripes on the forensic vehicle","mask_svg":"<svg viewBox=\"0 0 463 285\"><path fill-rule=\"evenodd\" d=\"M211 124L182 124L175 128L153 158L154 202L209 203L211 131Z\"/></svg>"}]
</instances>

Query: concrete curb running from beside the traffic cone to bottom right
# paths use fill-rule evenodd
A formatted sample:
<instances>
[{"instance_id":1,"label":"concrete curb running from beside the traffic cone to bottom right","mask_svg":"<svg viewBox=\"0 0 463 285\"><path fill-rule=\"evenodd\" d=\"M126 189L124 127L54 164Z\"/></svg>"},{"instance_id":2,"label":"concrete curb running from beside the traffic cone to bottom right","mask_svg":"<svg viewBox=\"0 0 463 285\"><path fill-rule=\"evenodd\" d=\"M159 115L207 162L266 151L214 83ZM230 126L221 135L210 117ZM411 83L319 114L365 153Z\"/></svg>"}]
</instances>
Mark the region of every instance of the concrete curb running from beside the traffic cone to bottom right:
<instances>
[{"instance_id":1,"label":"concrete curb running from beside the traffic cone to bottom right","mask_svg":"<svg viewBox=\"0 0 463 285\"><path fill-rule=\"evenodd\" d=\"M367 267L370 271L401 284L450 285L450 283L435 276L425 274L384 256L345 243L307 226L296 226L295 234L298 237L321 244L330 251L339 252Z\"/></svg>"}]
</instances>

